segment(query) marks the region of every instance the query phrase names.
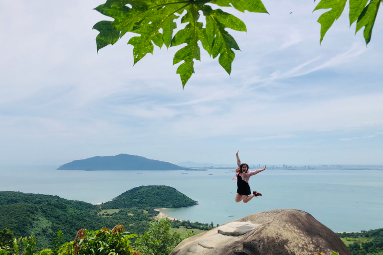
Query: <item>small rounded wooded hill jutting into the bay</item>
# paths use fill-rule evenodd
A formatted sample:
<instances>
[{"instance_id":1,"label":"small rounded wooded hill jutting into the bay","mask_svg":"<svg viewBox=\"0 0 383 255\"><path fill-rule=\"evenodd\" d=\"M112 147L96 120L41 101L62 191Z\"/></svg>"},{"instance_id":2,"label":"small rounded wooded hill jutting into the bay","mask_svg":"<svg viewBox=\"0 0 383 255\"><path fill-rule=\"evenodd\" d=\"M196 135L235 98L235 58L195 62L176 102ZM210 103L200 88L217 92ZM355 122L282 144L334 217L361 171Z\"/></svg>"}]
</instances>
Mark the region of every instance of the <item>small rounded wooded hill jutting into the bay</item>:
<instances>
[{"instance_id":1,"label":"small rounded wooded hill jutting into the bay","mask_svg":"<svg viewBox=\"0 0 383 255\"><path fill-rule=\"evenodd\" d=\"M114 201L101 204L102 209L179 208L196 205L197 202L169 186L140 186L119 195Z\"/></svg>"}]
</instances>

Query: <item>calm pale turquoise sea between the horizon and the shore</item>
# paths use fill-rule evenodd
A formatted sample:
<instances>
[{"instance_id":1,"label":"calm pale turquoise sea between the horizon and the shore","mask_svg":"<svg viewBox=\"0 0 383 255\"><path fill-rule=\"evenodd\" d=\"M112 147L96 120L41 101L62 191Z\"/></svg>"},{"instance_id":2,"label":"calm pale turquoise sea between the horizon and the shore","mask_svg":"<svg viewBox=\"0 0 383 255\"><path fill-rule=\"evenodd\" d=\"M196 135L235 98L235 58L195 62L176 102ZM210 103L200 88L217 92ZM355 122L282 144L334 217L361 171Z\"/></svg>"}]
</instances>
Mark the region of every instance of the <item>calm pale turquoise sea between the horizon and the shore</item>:
<instances>
[{"instance_id":1,"label":"calm pale turquoise sea between the horizon and the shore","mask_svg":"<svg viewBox=\"0 0 383 255\"><path fill-rule=\"evenodd\" d=\"M198 201L189 208L167 209L169 217L223 224L246 215L299 209L335 232L383 228L383 171L268 170L250 178L262 193L235 203L233 170L207 171L59 171L57 166L0 167L0 191L57 195L101 203L141 185L168 185ZM229 172L229 173L226 173ZM140 174L137 174L140 173Z\"/></svg>"}]
</instances>

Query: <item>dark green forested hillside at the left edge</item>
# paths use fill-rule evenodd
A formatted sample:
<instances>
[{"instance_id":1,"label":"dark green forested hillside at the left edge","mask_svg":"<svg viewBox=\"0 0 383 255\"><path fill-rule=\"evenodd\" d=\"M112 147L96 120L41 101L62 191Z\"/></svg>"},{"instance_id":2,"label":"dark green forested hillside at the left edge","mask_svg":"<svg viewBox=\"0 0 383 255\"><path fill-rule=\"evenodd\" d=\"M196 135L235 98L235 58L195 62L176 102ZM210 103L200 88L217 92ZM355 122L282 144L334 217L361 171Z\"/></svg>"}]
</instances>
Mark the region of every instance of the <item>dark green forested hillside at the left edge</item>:
<instances>
[{"instance_id":1,"label":"dark green forested hillside at the left edge","mask_svg":"<svg viewBox=\"0 0 383 255\"><path fill-rule=\"evenodd\" d=\"M58 196L0 192L0 229L9 228L15 236L34 235L47 247L61 230L70 241L79 229L99 229L106 222L97 213L101 209L89 203Z\"/></svg>"}]
</instances>

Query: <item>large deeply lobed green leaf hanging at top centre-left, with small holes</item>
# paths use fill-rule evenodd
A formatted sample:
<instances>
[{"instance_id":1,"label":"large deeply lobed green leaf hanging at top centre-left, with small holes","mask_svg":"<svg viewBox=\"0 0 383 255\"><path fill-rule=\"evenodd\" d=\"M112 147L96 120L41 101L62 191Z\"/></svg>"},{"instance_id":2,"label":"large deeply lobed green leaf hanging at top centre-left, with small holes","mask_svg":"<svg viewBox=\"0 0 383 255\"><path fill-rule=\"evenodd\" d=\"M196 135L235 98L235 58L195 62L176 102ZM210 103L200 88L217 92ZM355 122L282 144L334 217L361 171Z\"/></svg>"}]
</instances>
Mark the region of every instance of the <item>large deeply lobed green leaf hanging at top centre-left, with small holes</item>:
<instances>
[{"instance_id":1,"label":"large deeply lobed green leaf hanging at top centre-left, with small holes","mask_svg":"<svg viewBox=\"0 0 383 255\"><path fill-rule=\"evenodd\" d=\"M97 50L116 43L126 33L140 36L132 37L128 44L133 45L134 64L152 53L154 44L167 48L184 45L174 56L173 64L184 61L177 69L183 87L194 73L194 60L200 60L201 43L204 50L216 58L228 74L234 60L234 51L239 46L226 31L246 31L245 24L230 13L212 9L206 3L224 7L234 7L244 12L264 12L266 8L260 0L107 0L95 9L112 17L113 21L100 21L93 28L100 33L96 37ZM205 24L201 20L203 18ZM175 20L181 17L184 28L177 27ZM178 29L175 35L174 31Z\"/></svg>"}]
</instances>

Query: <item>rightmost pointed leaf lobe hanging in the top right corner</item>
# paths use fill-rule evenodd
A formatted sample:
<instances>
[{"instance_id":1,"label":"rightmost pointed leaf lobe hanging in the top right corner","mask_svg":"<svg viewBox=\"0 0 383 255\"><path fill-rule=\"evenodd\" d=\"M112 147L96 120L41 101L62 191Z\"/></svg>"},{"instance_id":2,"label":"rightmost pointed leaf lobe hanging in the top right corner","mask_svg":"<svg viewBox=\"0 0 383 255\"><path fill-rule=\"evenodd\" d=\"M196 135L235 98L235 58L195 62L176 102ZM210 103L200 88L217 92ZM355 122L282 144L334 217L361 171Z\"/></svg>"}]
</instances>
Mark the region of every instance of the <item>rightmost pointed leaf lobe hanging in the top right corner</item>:
<instances>
[{"instance_id":1,"label":"rightmost pointed leaf lobe hanging in the top right corner","mask_svg":"<svg viewBox=\"0 0 383 255\"><path fill-rule=\"evenodd\" d=\"M373 33L373 27L377 18L380 4L381 0L371 0L370 3L363 9L361 15L358 18L355 33L364 26L365 30L363 31L363 35L365 37L366 44L369 44L371 40L371 35Z\"/></svg>"}]
</instances>

